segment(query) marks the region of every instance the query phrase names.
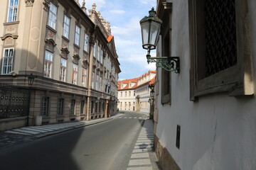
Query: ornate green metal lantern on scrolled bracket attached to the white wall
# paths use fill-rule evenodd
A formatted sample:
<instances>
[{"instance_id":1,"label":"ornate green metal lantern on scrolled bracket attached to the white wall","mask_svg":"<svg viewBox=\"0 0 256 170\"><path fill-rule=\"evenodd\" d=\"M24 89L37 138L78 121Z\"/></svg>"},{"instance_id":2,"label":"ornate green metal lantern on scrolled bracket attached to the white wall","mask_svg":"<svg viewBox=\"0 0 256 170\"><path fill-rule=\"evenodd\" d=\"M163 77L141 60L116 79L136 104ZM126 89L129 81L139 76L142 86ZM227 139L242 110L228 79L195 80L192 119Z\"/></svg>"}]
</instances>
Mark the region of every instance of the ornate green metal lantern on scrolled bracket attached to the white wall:
<instances>
[{"instance_id":1,"label":"ornate green metal lantern on scrolled bracket attached to the white wall","mask_svg":"<svg viewBox=\"0 0 256 170\"><path fill-rule=\"evenodd\" d=\"M149 16L145 16L139 21L142 28L142 47L147 50L146 59L149 62L156 62L156 67L161 67L169 72L179 73L180 59L179 57L151 57L150 50L156 49L161 31L160 18L156 16L156 11L151 8Z\"/></svg>"}]
</instances>

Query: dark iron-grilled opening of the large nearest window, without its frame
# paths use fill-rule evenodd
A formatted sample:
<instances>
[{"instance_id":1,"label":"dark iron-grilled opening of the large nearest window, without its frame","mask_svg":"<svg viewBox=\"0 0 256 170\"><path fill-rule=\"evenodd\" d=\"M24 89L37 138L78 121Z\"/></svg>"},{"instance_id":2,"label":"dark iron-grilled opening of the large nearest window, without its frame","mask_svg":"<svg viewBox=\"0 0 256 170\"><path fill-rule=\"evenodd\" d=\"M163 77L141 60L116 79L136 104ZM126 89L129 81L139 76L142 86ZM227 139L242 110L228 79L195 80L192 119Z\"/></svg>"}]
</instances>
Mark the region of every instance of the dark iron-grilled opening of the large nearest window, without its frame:
<instances>
[{"instance_id":1,"label":"dark iron-grilled opening of the large nearest window, without its frame","mask_svg":"<svg viewBox=\"0 0 256 170\"><path fill-rule=\"evenodd\" d=\"M237 63L235 0L206 0L206 77Z\"/></svg>"}]
</instances>

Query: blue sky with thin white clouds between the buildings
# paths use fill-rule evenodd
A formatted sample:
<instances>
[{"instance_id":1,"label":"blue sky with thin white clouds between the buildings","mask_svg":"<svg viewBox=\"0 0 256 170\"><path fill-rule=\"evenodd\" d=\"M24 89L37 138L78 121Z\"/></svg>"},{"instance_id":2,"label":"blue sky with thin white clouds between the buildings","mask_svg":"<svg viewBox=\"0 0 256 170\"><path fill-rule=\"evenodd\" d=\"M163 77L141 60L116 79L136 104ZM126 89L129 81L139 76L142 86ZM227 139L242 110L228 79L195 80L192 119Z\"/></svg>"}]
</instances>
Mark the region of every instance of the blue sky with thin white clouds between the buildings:
<instances>
[{"instance_id":1,"label":"blue sky with thin white clouds between the buildings","mask_svg":"<svg viewBox=\"0 0 256 170\"><path fill-rule=\"evenodd\" d=\"M122 70L119 79L132 79L142 76L149 69L155 70L154 63L146 62L139 21L149 15L152 7L156 8L156 0L85 0L87 10L92 9L93 3L97 6L96 11L100 11L101 16L110 22ZM154 54L152 51L151 55Z\"/></svg>"}]
</instances>

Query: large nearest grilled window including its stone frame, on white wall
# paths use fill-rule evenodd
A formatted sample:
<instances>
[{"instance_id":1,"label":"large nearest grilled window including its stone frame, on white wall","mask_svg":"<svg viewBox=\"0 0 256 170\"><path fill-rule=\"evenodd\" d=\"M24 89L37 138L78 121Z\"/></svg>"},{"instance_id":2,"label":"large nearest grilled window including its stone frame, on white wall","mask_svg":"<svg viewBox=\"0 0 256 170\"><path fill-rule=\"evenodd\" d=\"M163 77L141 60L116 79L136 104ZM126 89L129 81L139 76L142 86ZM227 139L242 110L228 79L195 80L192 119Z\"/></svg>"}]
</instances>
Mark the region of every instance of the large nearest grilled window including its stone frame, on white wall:
<instances>
[{"instance_id":1,"label":"large nearest grilled window including its stone frame, on white wall","mask_svg":"<svg viewBox=\"0 0 256 170\"><path fill-rule=\"evenodd\" d=\"M188 1L192 101L223 91L230 96L254 93L251 23L247 12L240 10L247 6L246 1L235 0Z\"/></svg>"}]
</instances>

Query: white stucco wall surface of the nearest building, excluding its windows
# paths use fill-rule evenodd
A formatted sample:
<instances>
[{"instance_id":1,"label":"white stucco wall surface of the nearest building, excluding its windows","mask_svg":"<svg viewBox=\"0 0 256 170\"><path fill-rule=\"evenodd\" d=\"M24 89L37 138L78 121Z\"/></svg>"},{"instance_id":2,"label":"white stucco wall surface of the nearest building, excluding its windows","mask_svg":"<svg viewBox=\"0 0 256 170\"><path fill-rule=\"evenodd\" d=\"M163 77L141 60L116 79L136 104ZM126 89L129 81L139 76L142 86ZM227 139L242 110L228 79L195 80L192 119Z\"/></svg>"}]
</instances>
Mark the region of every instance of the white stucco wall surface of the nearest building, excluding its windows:
<instances>
[{"instance_id":1,"label":"white stucco wall surface of the nearest building, excluding its windows","mask_svg":"<svg viewBox=\"0 0 256 170\"><path fill-rule=\"evenodd\" d=\"M200 96L195 102L189 100L188 1L171 2L171 53L181 57L181 73L171 73L171 106L162 106L160 95L157 100L156 136L181 169L256 169L255 96L220 93ZM256 1L248 3L255 68ZM161 77L161 72L158 74ZM176 148L177 125L181 125L180 149Z\"/></svg>"}]
</instances>

